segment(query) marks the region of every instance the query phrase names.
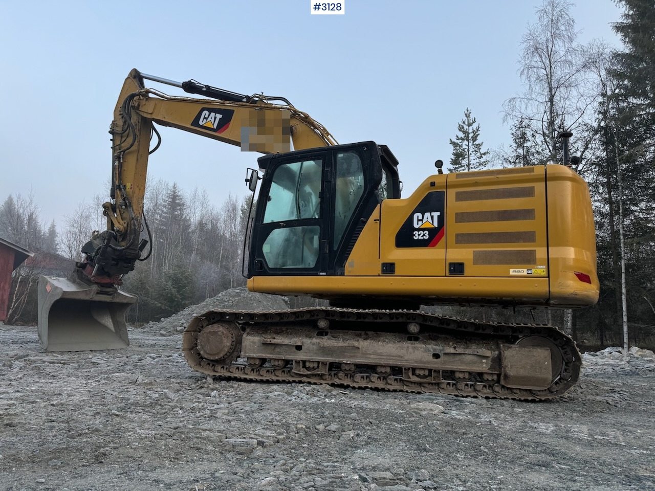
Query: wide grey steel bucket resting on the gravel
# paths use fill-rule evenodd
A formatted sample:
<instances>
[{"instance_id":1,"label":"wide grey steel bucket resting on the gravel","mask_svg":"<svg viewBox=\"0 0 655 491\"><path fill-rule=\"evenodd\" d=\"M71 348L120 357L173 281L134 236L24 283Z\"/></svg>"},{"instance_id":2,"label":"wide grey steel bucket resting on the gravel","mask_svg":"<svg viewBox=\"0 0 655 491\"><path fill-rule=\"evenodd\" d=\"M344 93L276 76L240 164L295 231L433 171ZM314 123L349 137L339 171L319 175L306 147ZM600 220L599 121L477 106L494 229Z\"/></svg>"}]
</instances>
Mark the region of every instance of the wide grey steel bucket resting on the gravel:
<instances>
[{"instance_id":1,"label":"wide grey steel bucket resting on the gravel","mask_svg":"<svg viewBox=\"0 0 655 491\"><path fill-rule=\"evenodd\" d=\"M130 346L125 313L136 296L114 287L39 277L39 339L48 351Z\"/></svg>"}]
</instances>

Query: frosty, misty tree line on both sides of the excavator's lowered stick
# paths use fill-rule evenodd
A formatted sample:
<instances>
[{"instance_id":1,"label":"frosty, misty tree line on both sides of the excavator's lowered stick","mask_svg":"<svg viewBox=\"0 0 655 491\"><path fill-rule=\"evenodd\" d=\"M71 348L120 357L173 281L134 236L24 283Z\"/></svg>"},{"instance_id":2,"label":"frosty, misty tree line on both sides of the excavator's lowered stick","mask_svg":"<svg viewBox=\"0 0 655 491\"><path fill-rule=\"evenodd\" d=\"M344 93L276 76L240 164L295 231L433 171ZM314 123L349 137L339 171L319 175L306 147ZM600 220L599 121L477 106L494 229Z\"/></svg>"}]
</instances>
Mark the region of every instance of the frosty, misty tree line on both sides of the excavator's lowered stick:
<instances>
[{"instance_id":1,"label":"frosty, misty tree line on both sides of the excavator's lowered stick","mask_svg":"<svg viewBox=\"0 0 655 491\"><path fill-rule=\"evenodd\" d=\"M79 203L65 217L63 232L58 233L54 222L48 226L41 223L33 196L9 196L0 205L0 237L30 251L59 253L81 261L81 249L90 232L106 227L101 203L100 196ZM146 248L147 252L151 247L149 259L138 262L124 277L123 289L139 297L128 320L159 320L221 291L244 286L241 259L249 207L250 198L239 200L229 195L216 207L204 190L185 194L176 183L149 183L144 215L153 243ZM142 236L148 238L145 230ZM43 268L28 267L14 273L10 304L22 307L36 302L36 279L41 272ZM21 314L25 318L20 318ZM8 321L33 323L35 316L35 308L20 308L13 316L10 313Z\"/></svg>"}]
</instances>

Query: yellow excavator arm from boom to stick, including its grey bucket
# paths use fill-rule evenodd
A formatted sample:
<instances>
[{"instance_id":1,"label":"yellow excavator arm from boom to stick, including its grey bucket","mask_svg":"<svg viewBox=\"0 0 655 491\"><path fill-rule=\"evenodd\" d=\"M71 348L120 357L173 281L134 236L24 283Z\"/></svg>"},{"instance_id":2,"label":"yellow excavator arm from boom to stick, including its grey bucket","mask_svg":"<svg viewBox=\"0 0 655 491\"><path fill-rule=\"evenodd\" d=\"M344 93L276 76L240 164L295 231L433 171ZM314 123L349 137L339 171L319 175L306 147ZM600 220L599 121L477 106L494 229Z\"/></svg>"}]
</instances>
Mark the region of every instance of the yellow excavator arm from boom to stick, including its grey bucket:
<instances>
[{"instance_id":1,"label":"yellow excavator arm from boom to stick, including its grey bucket","mask_svg":"<svg viewBox=\"0 0 655 491\"><path fill-rule=\"evenodd\" d=\"M144 80L181 88L169 96ZM199 98L197 96L202 96ZM143 198L153 123L171 126L242 151L263 154L335 145L329 132L285 98L246 96L196 81L174 82L130 71L114 109L110 200L102 205L106 230L94 231L69 278L39 278L39 338L47 350L103 350L128 346L125 313L136 297L118 289L122 277L143 261L152 244ZM141 238L147 230L148 239Z\"/></svg>"}]
</instances>

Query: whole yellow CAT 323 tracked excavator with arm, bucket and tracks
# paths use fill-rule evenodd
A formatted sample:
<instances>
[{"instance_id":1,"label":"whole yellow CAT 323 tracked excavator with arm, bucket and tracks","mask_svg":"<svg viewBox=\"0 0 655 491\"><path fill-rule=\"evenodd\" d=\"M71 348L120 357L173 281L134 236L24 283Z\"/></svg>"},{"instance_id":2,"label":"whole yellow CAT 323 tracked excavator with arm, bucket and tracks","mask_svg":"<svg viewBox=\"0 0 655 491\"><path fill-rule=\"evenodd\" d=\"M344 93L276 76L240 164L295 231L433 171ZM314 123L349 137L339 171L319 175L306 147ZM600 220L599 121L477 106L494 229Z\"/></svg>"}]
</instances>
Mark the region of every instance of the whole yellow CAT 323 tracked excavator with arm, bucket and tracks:
<instances>
[{"instance_id":1,"label":"whole yellow CAT 323 tracked excavator with arm, bucket and tracks","mask_svg":"<svg viewBox=\"0 0 655 491\"><path fill-rule=\"evenodd\" d=\"M205 98L171 97L143 80ZM427 177L400 196L398 161L373 141L337 145L283 98L243 96L133 70L111 125L107 230L75 276L43 277L48 350L126 346L118 285L138 260L152 123L264 153L246 178L259 195L248 234L248 289L310 295L329 307L210 311L183 333L189 365L212 376L549 399L578 379L580 354L548 325L443 318L421 305L574 308L595 303L586 183L569 164ZM294 151L288 140L293 141ZM572 160L572 159L571 159ZM147 233L149 235L149 232ZM142 257L143 256L143 257Z\"/></svg>"}]
</instances>

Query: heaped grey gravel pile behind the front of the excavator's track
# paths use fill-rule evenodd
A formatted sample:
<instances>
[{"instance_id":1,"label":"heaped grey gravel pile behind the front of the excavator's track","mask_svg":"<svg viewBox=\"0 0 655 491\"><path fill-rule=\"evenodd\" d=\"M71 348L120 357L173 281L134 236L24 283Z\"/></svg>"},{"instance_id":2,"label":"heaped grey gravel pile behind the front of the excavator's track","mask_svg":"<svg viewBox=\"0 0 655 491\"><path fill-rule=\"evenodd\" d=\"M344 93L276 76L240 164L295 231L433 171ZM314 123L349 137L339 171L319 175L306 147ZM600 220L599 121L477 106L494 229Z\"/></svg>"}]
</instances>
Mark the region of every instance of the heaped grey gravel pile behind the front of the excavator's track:
<instances>
[{"instance_id":1,"label":"heaped grey gravel pile behind the front of the excavator's track","mask_svg":"<svg viewBox=\"0 0 655 491\"><path fill-rule=\"evenodd\" d=\"M161 319L159 322L149 322L141 329L158 332L160 336L170 336L174 333L181 333L191 319L209 310L282 310L286 308L289 308L289 301L286 297L253 293L246 287L232 288L219 293L212 299L206 299L204 302Z\"/></svg>"}]
</instances>

